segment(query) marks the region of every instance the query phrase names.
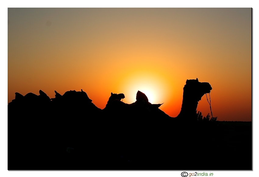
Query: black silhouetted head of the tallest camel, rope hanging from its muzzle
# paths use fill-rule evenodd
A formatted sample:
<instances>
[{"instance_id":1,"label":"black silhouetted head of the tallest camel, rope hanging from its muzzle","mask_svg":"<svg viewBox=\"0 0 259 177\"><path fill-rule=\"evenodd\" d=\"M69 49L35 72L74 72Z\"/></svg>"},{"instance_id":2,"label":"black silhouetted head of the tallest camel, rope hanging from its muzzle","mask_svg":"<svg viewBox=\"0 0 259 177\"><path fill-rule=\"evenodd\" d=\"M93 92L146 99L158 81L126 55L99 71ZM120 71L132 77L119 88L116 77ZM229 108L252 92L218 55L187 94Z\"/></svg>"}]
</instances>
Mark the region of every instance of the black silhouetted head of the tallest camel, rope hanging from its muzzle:
<instances>
[{"instance_id":1,"label":"black silhouetted head of the tallest camel, rope hanging from its muzzle","mask_svg":"<svg viewBox=\"0 0 259 177\"><path fill-rule=\"evenodd\" d=\"M200 101L204 94L211 92L211 85L208 82L199 82L198 78L186 80L186 85L183 87L184 92L190 99Z\"/></svg>"}]
</instances>

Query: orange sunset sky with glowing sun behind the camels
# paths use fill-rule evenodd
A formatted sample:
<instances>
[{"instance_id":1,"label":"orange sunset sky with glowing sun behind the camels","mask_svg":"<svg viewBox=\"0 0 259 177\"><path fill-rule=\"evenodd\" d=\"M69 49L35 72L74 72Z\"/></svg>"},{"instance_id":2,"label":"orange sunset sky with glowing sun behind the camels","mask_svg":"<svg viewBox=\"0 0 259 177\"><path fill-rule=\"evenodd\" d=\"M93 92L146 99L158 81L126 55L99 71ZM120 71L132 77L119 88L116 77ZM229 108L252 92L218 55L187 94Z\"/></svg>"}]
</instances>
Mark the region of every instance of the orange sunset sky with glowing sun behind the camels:
<instances>
[{"instance_id":1,"label":"orange sunset sky with glowing sun behind the camels","mask_svg":"<svg viewBox=\"0 0 259 177\"><path fill-rule=\"evenodd\" d=\"M104 108L137 91L176 117L186 79L209 82L219 121L251 121L250 8L8 8L8 103L83 89ZM206 96L198 104L210 112Z\"/></svg>"}]
</instances>

